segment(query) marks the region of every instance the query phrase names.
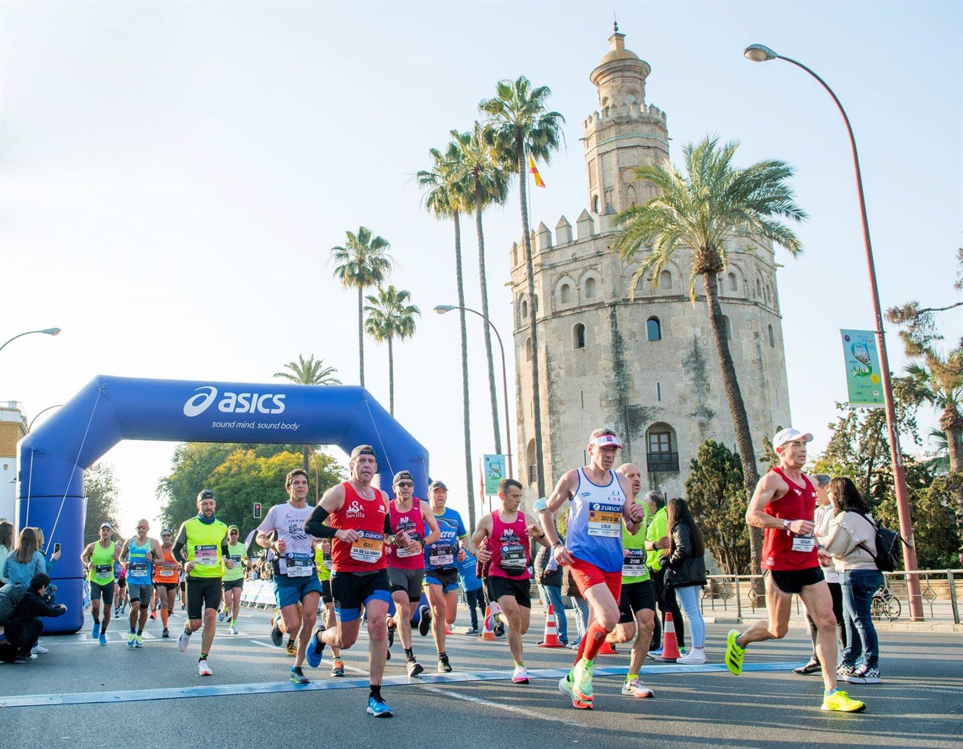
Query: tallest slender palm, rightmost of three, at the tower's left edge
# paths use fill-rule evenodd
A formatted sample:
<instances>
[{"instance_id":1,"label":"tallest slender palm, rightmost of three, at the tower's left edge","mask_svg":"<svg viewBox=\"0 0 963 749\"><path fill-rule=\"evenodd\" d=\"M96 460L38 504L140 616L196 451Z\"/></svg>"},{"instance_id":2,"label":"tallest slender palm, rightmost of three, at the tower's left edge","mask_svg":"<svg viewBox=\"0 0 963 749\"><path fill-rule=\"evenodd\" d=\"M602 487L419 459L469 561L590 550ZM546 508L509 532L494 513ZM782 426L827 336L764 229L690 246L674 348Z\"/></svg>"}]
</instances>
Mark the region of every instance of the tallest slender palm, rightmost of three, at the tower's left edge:
<instances>
[{"instance_id":1,"label":"tallest slender palm, rightmost of three, at the tower's left edge","mask_svg":"<svg viewBox=\"0 0 963 749\"><path fill-rule=\"evenodd\" d=\"M518 200L522 213L522 245L525 246L525 271L528 275L529 327L532 331L532 395L534 408L535 473L538 496L545 496L545 467L542 460L541 397L538 391L538 331L535 329L535 281L532 263L532 237L529 230L528 197L525 176L526 158L548 164L563 138L565 118L549 112L545 100L552 94L547 86L532 86L524 75L516 80L499 81L496 94L482 99L479 110L489 116L493 142L504 149L506 160L518 174Z\"/></svg>"}]
</instances>

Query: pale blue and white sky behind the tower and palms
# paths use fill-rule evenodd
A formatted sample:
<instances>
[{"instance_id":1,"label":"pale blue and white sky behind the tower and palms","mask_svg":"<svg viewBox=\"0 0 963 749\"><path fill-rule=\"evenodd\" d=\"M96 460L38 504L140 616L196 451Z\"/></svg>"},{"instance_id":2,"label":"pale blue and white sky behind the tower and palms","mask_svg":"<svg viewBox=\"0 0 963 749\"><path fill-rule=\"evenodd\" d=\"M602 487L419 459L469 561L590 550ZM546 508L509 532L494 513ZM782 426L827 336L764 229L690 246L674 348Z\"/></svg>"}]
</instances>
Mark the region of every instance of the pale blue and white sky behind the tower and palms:
<instances>
[{"instance_id":1,"label":"pale blue and white sky behind the tower and palms","mask_svg":"<svg viewBox=\"0 0 963 749\"><path fill-rule=\"evenodd\" d=\"M646 98L668 115L674 159L717 133L742 141L742 164L798 168L806 254L777 255L778 280L794 425L819 449L846 400L838 330L872 327L848 143L815 81L742 48L766 43L834 87L861 149L883 304L942 305L961 243L959 3L3 3L0 339L64 332L0 355L0 400L33 415L95 374L268 381L299 353L356 382L355 297L326 259L364 224L391 242L392 281L423 311L396 347L396 415L464 508L457 318L431 312L455 303L453 232L420 210L412 175L499 78L525 74L567 118L532 218L574 223L588 200L582 122L598 108L588 73L612 10L652 66ZM517 194L485 230L492 316L510 340ZM470 222L463 239L473 306ZM956 313L948 338L963 332ZM477 464L492 436L469 323ZM369 342L366 363L386 403L386 349ZM156 516L172 449L107 455L127 525Z\"/></svg>"}]
</instances>

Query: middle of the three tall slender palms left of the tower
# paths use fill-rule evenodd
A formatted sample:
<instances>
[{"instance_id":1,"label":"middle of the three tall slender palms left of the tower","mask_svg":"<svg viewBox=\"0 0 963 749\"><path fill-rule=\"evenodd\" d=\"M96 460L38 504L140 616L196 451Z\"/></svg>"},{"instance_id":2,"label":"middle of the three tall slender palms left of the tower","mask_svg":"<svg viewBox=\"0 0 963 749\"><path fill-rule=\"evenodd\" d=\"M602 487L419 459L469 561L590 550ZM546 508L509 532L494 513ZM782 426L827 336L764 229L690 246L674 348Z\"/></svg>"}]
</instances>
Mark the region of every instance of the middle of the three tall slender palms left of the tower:
<instances>
[{"instance_id":1,"label":"middle of the three tall slender palms left of the tower","mask_svg":"<svg viewBox=\"0 0 963 749\"><path fill-rule=\"evenodd\" d=\"M484 232L481 228L481 212L489 205L504 205L508 198L509 171L502 154L495 147L492 134L476 122L470 133L452 131L458 149L464 178L468 182L466 194L471 198L470 207L475 210L475 232L479 240L479 280L481 281L481 314L488 317L488 281L484 265ZM495 452L502 452L502 436L498 428L498 395L495 390L495 362L491 355L491 331L488 324L484 330L484 353L488 362L488 394L491 399L491 425L495 433ZM505 394L508 398L508 393ZM508 436L508 435L507 435ZM511 446L508 446L511 450Z\"/></svg>"}]
</instances>

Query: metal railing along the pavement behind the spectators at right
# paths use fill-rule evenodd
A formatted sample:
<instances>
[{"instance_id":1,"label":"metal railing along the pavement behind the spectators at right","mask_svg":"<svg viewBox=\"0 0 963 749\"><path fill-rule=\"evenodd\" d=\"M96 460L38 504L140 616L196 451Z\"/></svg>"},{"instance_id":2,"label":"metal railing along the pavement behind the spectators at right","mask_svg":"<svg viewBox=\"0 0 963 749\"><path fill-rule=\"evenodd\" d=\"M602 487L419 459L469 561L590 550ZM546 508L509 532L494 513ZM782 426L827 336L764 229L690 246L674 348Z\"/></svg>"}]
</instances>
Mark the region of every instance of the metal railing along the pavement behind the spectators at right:
<instances>
[{"instance_id":1,"label":"metal railing along the pavement behind the spectators at right","mask_svg":"<svg viewBox=\"0 0 963 749\"><path fill-rule=\"evenodd\" d=\"M874 607L874 616L878 608L877 618L889 621L911 621L908 613L910 611L909 586L906 584L908 575L915 575L920 579L921 597L927 621L960 623L956 583L963 580L963 569L884 572L883 585L877 592L877 596L884 601L896 599L899 606ZM703 613L707 610L734 611L736 616L742 619L742 612L746 607L753 614L757 608L766 608L766 586L762 575L709 575L708 581L709 584L702 589ZM794 604L796 614L801 615L804 607L798 596L794 596Z\"/></svg>"}]
</instances>

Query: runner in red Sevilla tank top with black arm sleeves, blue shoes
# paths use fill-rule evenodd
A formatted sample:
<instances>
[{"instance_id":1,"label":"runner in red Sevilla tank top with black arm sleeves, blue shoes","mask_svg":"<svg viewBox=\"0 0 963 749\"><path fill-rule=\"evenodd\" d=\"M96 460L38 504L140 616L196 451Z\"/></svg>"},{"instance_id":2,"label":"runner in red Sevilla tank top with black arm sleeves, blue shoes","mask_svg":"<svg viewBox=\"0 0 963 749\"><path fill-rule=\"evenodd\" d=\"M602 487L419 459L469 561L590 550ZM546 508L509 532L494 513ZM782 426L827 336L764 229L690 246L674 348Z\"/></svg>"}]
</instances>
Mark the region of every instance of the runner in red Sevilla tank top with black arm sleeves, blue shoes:
<instances>
[{"instance_id":1,"label":"runner in red Sevilla tank top with black arm sleeves, blue shoes","mask_svg":"<svg viewBox=\"0 0 963 749\"><path fill-rule=\"evenodd\" d=\"M368 617L368 670L371 692L368 713L391 717L381 698L381 680L387 656L388 603L391 601L385 570L384 536L389 532L388 495L372 486L377 473L375 449L359 445L351 451L351 478L325 492L304 530L316 538L331 538L331 595L337 627L325 630L318 622L308 645L307 659L315 668L321 663L325 645L345 650L355 643L361 625L361 608ZM325 524L325 520L327 523ZM407 546L404 533L396 541Z\"/></svg>"}]
</instances>

